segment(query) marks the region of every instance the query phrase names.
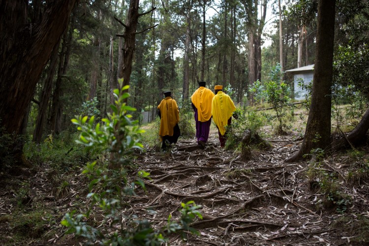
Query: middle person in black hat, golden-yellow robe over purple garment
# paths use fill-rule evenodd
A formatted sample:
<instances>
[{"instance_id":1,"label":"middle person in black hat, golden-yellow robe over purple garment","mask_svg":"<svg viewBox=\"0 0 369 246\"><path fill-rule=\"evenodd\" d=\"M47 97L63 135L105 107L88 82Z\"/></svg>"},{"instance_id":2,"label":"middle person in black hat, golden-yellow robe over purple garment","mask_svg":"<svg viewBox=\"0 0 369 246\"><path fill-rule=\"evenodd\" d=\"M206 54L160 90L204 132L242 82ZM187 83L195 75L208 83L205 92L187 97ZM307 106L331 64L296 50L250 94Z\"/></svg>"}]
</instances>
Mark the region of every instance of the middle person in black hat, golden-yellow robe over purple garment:
<instances>
[{"instance_id":1,"label":"middle person in black hat, golden-yellow robe over purple garment","mask_svg":"<svg viewBox=\"0 0 369 246\"><path fill-rule=\"evenodd\" d=\"M195 112L197 144L205 147L212 123L212 100L214 93L200 81L199 88L191 96L191 106Z\"/></svg>"}]
</instances>

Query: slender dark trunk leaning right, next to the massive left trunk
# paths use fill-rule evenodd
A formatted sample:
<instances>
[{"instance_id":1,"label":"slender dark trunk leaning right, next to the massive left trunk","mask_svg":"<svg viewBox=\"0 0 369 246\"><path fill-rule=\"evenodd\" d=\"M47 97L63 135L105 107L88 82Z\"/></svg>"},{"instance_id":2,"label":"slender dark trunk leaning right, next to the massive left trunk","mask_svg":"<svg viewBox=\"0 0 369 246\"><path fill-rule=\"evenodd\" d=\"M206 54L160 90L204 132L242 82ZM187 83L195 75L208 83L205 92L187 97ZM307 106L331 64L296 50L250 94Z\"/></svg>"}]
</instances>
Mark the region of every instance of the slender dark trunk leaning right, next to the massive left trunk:
<instances>
[{"instance_id":1,"label":"slender dark trunk leaning right, next to the massive left trunk","mask_svg":"<svg viewBox=\"0 0 369 246\"><path fill-rule=\"evenodd\" d=\"M47 74L47 78L45 80L44 88L42 89L41 100L39 104L38 115L32 139L32 141L36 142L37 144L41 142L44 125L46 122L47 108L49 105L50 95L53 88L53 79L55 74L55 67L57 64L59 46L60 42L57 44L57 46L55 46L53 53L51 54L49 71Z\"/></svg>"}]
</instances>

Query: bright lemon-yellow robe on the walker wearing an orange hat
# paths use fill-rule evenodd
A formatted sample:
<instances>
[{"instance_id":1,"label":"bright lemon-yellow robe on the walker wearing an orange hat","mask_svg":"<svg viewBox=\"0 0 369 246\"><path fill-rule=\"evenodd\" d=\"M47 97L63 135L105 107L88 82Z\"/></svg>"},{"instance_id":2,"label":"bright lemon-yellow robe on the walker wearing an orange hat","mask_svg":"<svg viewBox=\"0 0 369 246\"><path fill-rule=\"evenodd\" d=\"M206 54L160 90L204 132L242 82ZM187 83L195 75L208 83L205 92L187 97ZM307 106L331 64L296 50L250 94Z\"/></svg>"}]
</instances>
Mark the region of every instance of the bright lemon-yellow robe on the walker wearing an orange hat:
<instances>
[{"instance_id":1,"label":"bright lemon-yellow robe on the walker wearing an orange hat","mask_svg":"<svg viewBox=\"0 0 369 246\"><path fill-rule=\"evenodd\" d=\"M231 97L226 93L219 91L212 102L213 121L218 127L220 134L225 134L225 125L228 124L228 119L231 118L236 107Z\"/></svg>"}]
</instances>

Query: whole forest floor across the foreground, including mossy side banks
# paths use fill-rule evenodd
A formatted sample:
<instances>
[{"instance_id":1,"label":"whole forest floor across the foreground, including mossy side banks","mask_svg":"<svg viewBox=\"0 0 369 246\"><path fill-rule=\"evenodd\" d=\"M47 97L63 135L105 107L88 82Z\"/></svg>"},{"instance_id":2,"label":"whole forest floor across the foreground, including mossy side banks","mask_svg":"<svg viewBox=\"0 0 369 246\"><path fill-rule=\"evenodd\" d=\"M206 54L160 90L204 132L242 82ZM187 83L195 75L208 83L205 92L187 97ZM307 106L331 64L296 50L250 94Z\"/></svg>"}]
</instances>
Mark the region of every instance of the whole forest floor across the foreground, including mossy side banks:
<instances>
[{"instance_id":1,"label":"whole forest floor across the foreground, including mossy side banks","mask_svg":"<svg viewBox=\"0 0 369 246\"><path fill-rule=\"evenodd\" d=\"M180 217L181 202L201 205L203 219L191 225L199 236L175 235L170 245L369 245L369 170L360 169L369 166L368 146L364 155L333 154L316 171L312 162L283 161L298 150L296 139L269 138L272 148L253 150L249 160L221 149L214 128L205 149L181 138L168 153L147 149L135 163L152 180L131 197L124 214L161 228L169 215ZM87 209L81 169L65 172L65 185L47 164L1 176L1 245L83 244L60 224L65 213Z\"/></svg>"}]
</instances>

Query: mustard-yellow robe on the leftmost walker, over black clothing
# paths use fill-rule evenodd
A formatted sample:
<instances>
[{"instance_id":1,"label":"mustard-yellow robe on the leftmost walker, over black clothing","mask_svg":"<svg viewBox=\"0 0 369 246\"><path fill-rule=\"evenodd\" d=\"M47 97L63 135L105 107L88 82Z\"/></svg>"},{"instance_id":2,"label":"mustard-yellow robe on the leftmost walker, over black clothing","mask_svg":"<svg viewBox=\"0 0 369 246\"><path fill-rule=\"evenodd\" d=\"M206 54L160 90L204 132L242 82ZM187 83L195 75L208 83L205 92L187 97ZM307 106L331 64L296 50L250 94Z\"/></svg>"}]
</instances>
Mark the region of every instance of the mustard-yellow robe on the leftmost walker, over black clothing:
<instances>
[{"instance_id":1,"label":"mustard-yellow robe on the leftmost walker, over black clothing","mask_svg":"<svg viewBox=\"0 0 369 246\"><path fill-rule=\"evenodd\" d=\"M161 100L157 108L160 110L160 136L173 136L173 128L180 122L180 111L178 110L176 100L167 96Z\"/></svg>"}]
</instances>

